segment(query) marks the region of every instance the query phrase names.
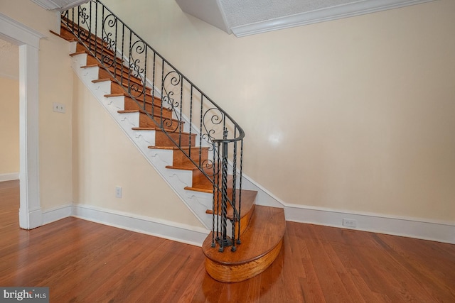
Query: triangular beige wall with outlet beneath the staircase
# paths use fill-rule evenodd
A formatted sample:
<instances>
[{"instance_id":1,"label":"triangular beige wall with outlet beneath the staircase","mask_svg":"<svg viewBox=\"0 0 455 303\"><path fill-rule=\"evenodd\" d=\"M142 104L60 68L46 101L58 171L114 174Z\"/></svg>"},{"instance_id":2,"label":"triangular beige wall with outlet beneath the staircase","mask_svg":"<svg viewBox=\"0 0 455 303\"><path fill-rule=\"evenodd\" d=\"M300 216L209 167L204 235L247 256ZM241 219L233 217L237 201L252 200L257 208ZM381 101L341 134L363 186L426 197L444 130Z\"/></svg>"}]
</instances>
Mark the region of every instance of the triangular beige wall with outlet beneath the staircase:
<instances>
[{"instance_id":1,"label":"triangular beige wall with outlet beneath the staircase","mask_svg":"<svg viewBox=\"0 0 455 303\"><path fill-rule=\"evenodd\" d=\"M76 204L202 227L76 75L73 99Z\"/></svg>"}]
</instances>

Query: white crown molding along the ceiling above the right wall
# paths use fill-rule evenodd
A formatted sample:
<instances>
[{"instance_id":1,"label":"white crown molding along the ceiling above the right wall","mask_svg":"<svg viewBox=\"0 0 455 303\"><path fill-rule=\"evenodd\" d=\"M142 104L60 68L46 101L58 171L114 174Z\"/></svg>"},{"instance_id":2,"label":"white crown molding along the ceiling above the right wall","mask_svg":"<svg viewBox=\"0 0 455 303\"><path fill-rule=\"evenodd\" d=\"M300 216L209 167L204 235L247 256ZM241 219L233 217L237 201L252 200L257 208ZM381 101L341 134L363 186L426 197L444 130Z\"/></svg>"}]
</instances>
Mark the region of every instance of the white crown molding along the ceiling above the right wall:
<instances>
[{"instance_id":1,"label":"white crown molding along the ceiling above the right wall","mask_svg":"<svg viewBox=\"0 0 455 303\"><path fill-rule=\"evenodd\" d=\"M237 37L375 13L434 0L364 0L230 28Z\"/></svg>"}]
</instances>

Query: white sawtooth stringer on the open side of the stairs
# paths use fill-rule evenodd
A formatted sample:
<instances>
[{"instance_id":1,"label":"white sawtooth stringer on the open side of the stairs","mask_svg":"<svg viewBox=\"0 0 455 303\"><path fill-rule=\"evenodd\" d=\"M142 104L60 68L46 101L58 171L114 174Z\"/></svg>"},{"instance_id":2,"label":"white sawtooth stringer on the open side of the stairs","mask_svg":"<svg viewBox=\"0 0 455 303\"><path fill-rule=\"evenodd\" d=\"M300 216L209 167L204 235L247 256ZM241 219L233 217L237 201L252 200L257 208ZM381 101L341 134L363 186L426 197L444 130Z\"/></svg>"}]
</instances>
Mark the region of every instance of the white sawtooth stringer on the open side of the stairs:
<instances>
[{"instance_id":1,"label":"white sawtooth stringer on the open side of the stairs","mask_svg":"<svg viewBox=\"0 0 455 303\"><path fill-rule=\"evenodd\" d=\"M156 172L163 177L169 187L173 189L173 192L177 194L188 209L198 218L200 223L208 229L208 233L212 228L212 215L206 214L205 211L212 209L213 194L193 192L185 189L185 187L192 187L193 172L191 170L166 168L166 166L172 165L173 150L149 148L150 145L154 145L155 131L137 131L132 129L139 127L139 113L119 114L118 111L124 109L124 97L105 97L105 95L111 94L111 82L93 83L93 80L98 79L98 69L100 67L85 67L85 65L87 65L87 54L79 54L72 57L71 67L77 77L79 77L95 99L109 113L109 116L120 126L125 135L127 135L127 138L132 141L144 158L154 167Z\"/></svg>"}]
</instances>

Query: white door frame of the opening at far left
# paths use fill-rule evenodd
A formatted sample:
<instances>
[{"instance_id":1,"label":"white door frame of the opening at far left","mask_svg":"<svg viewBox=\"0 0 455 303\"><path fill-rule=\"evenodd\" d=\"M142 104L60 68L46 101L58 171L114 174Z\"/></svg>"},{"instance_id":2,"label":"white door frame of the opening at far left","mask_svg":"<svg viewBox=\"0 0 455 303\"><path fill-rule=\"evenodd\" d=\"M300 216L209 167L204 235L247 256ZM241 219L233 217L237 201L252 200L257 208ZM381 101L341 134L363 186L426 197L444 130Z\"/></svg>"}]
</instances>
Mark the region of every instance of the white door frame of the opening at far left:
<instances>
[{"instance_id":1,"label":"white door frame of the opening at far left","mask_svg":"<svg viewBox=\"0 0 455 303\"><path fill-rule=\"evenodd\" d=\"M19 226L42 225L38 158L38 50L45 35L0 13L0 38L19 45Z\"/></svg>"}]
</instances>

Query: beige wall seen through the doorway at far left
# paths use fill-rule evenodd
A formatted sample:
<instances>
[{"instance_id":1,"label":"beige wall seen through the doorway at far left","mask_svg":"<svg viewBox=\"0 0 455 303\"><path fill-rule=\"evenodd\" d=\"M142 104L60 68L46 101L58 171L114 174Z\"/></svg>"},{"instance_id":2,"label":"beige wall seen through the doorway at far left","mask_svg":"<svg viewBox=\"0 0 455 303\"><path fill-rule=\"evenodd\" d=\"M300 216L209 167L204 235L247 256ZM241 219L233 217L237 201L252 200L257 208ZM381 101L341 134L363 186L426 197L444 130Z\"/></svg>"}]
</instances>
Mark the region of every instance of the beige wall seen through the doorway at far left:
<instances>
[{"instance_id":1,"label":"beige wall seen through the doorway at far left","mask_svg":"<svg viewBox=\"0 0 455 303\"><path fill-rule=\"evenodd\" d=\"M0 175L19 172L19 81L0 77Z\"/></svg>"}]
</instances>

